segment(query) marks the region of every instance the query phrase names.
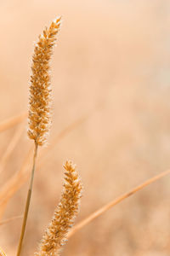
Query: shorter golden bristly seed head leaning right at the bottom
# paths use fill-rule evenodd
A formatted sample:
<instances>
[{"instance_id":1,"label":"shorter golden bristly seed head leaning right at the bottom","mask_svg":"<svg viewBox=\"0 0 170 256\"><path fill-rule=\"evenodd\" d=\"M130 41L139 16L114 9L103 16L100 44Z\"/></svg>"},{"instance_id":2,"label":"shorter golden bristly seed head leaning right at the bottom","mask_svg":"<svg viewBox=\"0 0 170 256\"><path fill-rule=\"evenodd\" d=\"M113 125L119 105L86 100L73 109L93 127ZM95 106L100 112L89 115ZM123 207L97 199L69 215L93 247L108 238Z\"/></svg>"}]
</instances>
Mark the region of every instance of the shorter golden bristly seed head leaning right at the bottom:
<instances>
[{"instance_id":1,"label":"shorter golden bristly seed head leaning right at the bottom","mask_svg":"<svg viewBox=\"0 0 170 256\"><path fill-rule=\"evenodd\" d=\"M37 256L60 255L61 247L65 244L66 236L77 216L82 184L71 161L66 161L64 167L65 183L61 199L54 211L54 217L42 237L39 251L35 253Z\"/></svg>"}]
</instances>

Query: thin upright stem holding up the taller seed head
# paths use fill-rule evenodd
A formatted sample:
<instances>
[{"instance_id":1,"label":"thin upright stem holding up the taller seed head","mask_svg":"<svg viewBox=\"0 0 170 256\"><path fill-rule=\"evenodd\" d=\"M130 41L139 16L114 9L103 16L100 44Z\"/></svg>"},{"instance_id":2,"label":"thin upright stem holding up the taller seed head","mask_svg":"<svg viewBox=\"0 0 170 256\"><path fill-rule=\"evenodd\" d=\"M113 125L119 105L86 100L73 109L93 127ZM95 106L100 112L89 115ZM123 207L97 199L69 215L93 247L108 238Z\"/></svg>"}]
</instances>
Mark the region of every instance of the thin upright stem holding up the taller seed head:
<instances>
[{"instance_id":1,"label":"thin upright stem holding up the taller seed head","mask_svg":"<svg viewBox=\"0 0 170 256\"><path fill-rule=\"evenodd\" d=\"M22 229L21 229L21 233L20 233L20 241L19 241L17 256L20 256L22 241L23 241L25 231L26 231L26 220L28 217L28 211L29 211L29 207L30 207L31 191L32 191L32 185L33 185L33 180L34 180L36 160L37 160L37 143L35 143L33 166L32 166L32 170L31 170L31 179L30 179L30 185L29 185L28 194L27 194L27 198L26 198L26 207L25 207L25 213L24 213L24 218L23 218L23 223L22 223Z\"/></svg>"}]
</instances>

